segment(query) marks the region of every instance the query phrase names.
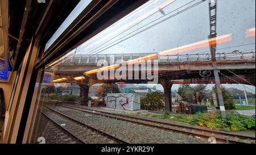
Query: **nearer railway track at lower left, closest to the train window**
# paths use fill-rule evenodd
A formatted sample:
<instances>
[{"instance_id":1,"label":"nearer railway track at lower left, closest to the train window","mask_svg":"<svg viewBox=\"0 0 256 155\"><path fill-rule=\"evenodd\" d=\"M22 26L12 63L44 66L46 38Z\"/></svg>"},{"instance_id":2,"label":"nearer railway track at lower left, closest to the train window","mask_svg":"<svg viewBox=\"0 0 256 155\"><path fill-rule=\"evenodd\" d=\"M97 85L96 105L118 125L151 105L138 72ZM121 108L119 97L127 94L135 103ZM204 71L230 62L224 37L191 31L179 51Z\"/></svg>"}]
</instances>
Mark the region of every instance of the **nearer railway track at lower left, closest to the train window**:
<instances>
[{"instance_id":1,"label":"nearer railway track at lower left, closest to the train window","mask_svg":"<svg viewBox=\"0 0 256 155\"><path fill-rule=\"evenodd\" d=\"M43 106L40 112L81 143L126 143L126 141L90 127L51 107Z\"/></svg>"}]
</instances>

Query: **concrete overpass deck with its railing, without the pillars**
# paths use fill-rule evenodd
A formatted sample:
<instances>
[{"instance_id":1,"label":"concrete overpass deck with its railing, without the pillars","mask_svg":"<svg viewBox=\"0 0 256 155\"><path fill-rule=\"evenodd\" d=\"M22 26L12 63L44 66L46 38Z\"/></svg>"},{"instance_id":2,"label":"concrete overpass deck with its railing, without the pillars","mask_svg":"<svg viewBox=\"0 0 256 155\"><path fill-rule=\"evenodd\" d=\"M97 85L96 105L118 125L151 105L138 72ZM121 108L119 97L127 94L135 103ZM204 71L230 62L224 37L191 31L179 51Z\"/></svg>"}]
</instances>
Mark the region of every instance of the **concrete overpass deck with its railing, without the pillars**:
<instances>
[{"instance_id":1,"label":"concrete overpass deck with its railing, without the pillars","mask_svg":"<svg viewBox=\"0 0 256 155\"><path fill-rule=\"evenodd\" d=\"M152 54L152 53L150 53ZM117 60L134 60L149 55L149 53L134 53L134 54L118 54L118 55L70 55L63 60L61 64L52 68L55 70L56 79L66 76L81 76L83 73L89 70L98 69L97 61L100 59L110 61L112 57L113 64ZM250 83L255 85L255 52L238 52L238 53L217 53L216 67L221 70L226 76L235 76L230 74L228 70L233 70L237 75L245 78ZM158 58L158 74L159 79L164 78L168 80L176 79L200 79L213 77L211 72L209 75L203 75L204 70L213 70L213 62L209 53L193 54L193 55L170 55L162 56ZM228 69L228 70L227 70ZM51 70L51 69L49 69ZM201 72L200 72L201 71ZM139 70L142 73L143 70ZM95 76L91 78L97 79ZM72 82L73 78L69 78L69 82ZM127 83L146 83L147 80L143 79L132 79L132 80L117 80L109 79L104 82L127 82ZM197 80L198 81L198 80ZM76 81L73 81L76 82ZM226 81L223 81L226 83ZM232 80L228 82L233 83ZM240 81L243 83L244 81Z\"/></svg>"}]
</instances>

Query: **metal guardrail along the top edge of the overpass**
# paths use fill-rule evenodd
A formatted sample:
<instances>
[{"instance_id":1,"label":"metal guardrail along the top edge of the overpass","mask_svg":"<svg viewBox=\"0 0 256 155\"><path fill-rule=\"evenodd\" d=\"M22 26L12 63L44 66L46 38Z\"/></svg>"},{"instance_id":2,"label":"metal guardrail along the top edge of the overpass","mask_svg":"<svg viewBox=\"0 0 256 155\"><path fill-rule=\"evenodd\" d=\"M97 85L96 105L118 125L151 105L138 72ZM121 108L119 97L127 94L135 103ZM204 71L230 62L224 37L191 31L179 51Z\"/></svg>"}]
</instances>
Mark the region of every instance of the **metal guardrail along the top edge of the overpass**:
<instances>
[{"instance_id":1,"label":"metal guardrail along the top edge of the overpass","mask_svg":"<svg viewBox=\"0 0 256 155\"><path fill-rule=\"evenodd\" d=\"M96 64L98 60L106 60L110 62L117 60L133 60L135 58L152 55L154 53L130 53L130 54L106 54L106 55L69 55L61 63L69 64ZM159 62L190 62L190 61L207 61L211 60L210 53L197 53L197 54L186 54L186 55L167 55L159 56ZM216 53L216 60L241 60L241 59L255 59L255 51L252 52L232 52L232 53ZM114 63L113 62L113 63Z\"/></svg>"}]
</instances>

